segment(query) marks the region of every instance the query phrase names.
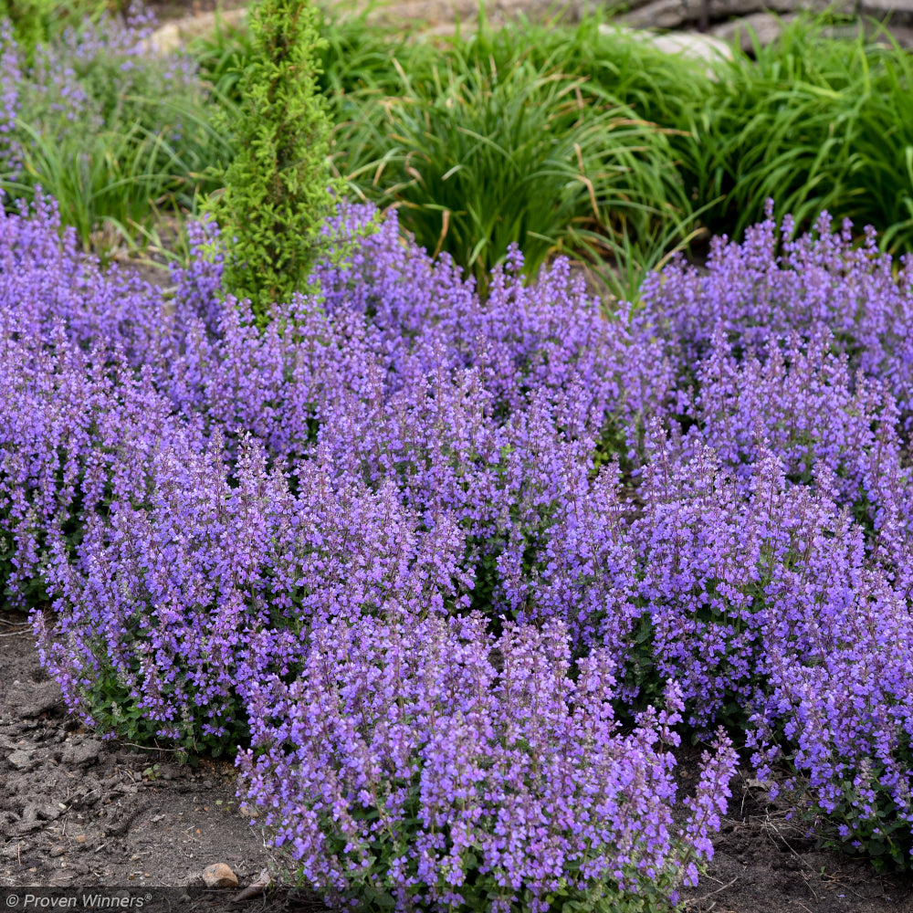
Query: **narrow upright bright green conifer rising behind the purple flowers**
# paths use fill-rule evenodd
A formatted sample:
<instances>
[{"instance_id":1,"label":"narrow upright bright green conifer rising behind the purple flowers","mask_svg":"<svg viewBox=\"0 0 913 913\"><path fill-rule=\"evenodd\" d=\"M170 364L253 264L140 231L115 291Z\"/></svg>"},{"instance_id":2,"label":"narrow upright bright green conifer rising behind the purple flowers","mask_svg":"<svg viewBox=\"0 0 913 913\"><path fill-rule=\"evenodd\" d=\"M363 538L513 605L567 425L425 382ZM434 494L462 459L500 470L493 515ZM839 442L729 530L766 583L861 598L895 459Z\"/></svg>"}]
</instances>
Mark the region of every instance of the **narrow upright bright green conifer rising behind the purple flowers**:
<instances>
[{"instance_id":1,"label":"narrow upright bright green conifer rising behind the purple flowers","mask_svg":"<svg viewBox=\"0 0 913 913\"><path fill-rule=\"evenodd\" d=\"M243 103L220 119L236 150L225 188L207 204L227 242L226 289L269 306L307 287L331 212L331 123L317 90L317 12L307 0L261 0L251 12L253 55Z\"/></svg>"}]
</instances>

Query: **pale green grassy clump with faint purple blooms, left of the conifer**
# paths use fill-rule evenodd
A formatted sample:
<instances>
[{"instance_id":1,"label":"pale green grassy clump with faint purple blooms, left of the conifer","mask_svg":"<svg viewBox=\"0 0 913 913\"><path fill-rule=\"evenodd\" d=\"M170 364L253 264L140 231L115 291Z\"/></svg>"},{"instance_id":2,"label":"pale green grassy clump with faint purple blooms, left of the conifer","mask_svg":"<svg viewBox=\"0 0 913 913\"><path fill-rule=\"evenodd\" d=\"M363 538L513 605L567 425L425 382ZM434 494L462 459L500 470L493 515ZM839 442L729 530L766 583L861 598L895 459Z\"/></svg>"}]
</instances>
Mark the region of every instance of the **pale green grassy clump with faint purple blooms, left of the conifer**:
<instances>
[{"instance_id":1,"label":"pale green grassy clump with faint purple blooms, left of the conifer","mask_svg":"<svg viewBox=\"0 0 913 913\"><path fill-rule=\"evenodd\" d=\"M128 59L97 42L96 29L86 34L91 53L79 38L47 47L68 79L23 69L15 155L0 161L0 189L10 205L31 202L39 187L52 194L82 247L104 259L124 240L149 236L162 208L193 212L216 186L207 168L227 162L231 148L202 84L169 73L173 58Z\"/></svg>"}]
</instances>

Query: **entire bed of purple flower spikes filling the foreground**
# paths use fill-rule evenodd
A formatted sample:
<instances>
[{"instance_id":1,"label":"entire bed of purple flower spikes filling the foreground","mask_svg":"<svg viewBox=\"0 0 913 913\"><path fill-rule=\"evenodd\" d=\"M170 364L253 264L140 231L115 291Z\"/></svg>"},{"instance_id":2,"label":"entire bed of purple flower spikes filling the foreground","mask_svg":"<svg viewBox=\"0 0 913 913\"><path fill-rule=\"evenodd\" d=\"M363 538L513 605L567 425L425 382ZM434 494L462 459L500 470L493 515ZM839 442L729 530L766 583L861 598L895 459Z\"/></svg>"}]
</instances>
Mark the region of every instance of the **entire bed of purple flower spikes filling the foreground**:
<instances>
[{"instance_id":1,"label":"entire bed of purple flower spikes filling the foreground","mask_svg":"<svg viewBox=\"0 0 913 913\"><path fill-rule=\"evenodd\" d=\"M673 828L679 713L905 861L909 265L770 223L606 317L564 261L528 284L512 251L482 299L354 206L260 331L215 226L163 293L47 201L0 220L5 584L54 598L83 719L249 735L301 876L401 907L671 894L730 761Z\"/></svg>"}]
</instances>

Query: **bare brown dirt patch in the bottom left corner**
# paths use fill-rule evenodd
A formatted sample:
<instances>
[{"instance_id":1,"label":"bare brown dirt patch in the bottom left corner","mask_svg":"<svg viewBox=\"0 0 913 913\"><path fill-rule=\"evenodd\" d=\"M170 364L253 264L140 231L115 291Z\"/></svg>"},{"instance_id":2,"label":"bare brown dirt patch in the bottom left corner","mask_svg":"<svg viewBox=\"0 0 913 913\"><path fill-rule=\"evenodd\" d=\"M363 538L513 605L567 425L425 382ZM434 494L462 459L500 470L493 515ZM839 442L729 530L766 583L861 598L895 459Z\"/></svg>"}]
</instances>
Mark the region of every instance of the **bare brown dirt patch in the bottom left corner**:
<instances>
[{"instance_id":1,"label":"bare brown dirt patch in the bottom left corner","mask_svg":"<svg viewBox=\"0 0 913 913\"><path fill-rule=\"evenodd\" d=\"M183 888L163 903L229 908L238 890L205 891L205 866L225 863L242 888L277 869L240 809L230 762L194 769L166 751L95 738L66 712L22 614L0 613L0 653L0 889L120 887L142 897L147 887ZM288 892L269 903L315 907Z\"/></svg>"}]
</instances>

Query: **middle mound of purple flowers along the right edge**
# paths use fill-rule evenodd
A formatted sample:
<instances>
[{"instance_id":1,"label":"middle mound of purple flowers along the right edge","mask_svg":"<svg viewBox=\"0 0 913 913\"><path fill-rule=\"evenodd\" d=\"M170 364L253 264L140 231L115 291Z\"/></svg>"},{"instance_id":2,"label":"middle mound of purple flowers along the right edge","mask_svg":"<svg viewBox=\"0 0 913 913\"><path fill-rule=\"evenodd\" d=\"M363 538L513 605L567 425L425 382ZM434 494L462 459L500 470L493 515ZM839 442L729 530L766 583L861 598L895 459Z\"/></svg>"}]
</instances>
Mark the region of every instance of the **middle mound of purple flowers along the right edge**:
<instances>
[{"instance_id":1,"label":"middle mound of purple flowers along the right edge","mask_svg":"<svg viewBox=\"0 0 913 913\"><path fill-rule=\"evenodd\" d=\"M909 586L913 467L888 384L850 372L830 331L793 334L737 358L721 329L698 364L686 408L690 436L712 446L748 484L771 450L793 483L834 475L834 497L871 534L873 554Z\"/></svg>"}]
</instances>

